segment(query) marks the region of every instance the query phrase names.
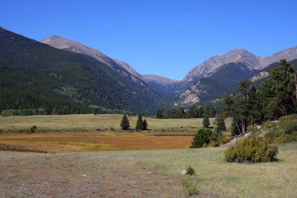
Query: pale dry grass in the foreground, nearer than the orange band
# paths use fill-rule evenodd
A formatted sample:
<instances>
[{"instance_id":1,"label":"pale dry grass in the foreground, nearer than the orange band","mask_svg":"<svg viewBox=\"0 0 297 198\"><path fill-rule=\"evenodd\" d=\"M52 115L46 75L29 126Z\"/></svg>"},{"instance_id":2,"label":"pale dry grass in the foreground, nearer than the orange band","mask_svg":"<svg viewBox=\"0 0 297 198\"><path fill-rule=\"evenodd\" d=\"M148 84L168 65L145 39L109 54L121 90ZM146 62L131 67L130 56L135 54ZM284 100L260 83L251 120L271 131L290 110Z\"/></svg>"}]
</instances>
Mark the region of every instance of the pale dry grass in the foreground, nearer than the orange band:
<instances>
[{"instance_id":1,"label":"pale dry grass in the foreground, nearer than the orange band","mask_svg":"<svg viewBox=\"0 0 297 198\"><path fill-rule=\"evenodd\" d=\"M279 145L273 163L227 163L224 149L0 151L0 197L183 198L180 172L189 165L197 197L297 197L297 144Z\"/></svg>"}]
</instances>

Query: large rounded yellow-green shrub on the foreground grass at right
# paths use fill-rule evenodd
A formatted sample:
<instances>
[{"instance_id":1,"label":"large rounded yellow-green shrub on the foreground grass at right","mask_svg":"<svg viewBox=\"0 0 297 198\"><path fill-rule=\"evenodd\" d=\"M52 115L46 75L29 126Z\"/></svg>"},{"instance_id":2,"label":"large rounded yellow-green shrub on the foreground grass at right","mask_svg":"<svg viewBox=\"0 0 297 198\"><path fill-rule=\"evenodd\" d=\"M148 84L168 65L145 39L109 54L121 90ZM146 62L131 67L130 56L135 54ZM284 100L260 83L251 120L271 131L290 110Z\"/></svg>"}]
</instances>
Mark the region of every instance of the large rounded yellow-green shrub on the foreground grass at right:
<instances>
[{"instance_id":1,"label":"large rounded yellow-green shrub on the foreground grass at right","mask_svg":"<svg viewBox=\"0 0 297 198\"><path fill-rule=\"evenodd\" d=\"M242 139L225 151L227 162L270 162L276 161L278 148L268 145L262 138L254 136Z\"/></svg>"}]
</instances>

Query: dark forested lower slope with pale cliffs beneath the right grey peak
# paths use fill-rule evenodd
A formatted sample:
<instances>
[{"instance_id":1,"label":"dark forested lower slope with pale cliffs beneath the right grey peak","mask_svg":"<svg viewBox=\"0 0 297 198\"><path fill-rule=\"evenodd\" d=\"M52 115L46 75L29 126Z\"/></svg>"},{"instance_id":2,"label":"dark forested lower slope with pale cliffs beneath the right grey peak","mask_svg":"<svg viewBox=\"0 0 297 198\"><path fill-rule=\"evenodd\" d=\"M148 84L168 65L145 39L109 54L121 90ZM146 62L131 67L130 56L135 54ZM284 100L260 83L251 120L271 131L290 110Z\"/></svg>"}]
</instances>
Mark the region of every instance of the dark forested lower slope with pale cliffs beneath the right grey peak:
<instances>
[{"instance_id":1,"label":"dark forested lower slope with pale cliffs beneath the right grey peak","mask_svg":"<svg viewBox=\"0 0 297 198\"><path fill-rule=\"evenodd\" d=\"M174 101L175 106L189 107L215 102L224 94L231 93L239 81L246 80L258 70L250 70L244 63L228 63L212 71L212 75L201 78L186 89Z\"/></svg>"}]
</instances>

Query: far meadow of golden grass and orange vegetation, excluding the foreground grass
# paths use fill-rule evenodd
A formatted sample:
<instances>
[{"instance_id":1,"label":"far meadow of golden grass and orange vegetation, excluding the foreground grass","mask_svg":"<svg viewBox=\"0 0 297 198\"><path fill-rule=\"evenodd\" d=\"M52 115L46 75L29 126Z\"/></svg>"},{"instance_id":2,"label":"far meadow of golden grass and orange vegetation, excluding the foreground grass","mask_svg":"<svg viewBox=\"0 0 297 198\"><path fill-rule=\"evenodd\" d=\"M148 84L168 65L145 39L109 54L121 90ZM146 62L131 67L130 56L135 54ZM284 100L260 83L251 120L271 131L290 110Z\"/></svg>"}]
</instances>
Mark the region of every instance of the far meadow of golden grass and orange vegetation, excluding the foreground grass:
<instances>
[{"instance_id":1,"label":"far meadow of golden grass and orange vegetation, excluding the foreground grass","mask_svg":"<svg viewBox=\"0 0 297 198\"><path fill-rule=\"evenodd\" d=\"M8 145L12 150L49 153L189 148L194 134L202 127L201 118L146 118L149 131L126 132L120 130L121 118L119 114L0 117L0 129L3 130L0 148ZM134 128L137 117L129 117L129 120ZM28 131L33 125L40 131L16 133ZM230 126L229 120L226 125ZM111 127L117 131L111 131ZM106 131L98 131L98 128Z\"/></svg>"}]
</instances>

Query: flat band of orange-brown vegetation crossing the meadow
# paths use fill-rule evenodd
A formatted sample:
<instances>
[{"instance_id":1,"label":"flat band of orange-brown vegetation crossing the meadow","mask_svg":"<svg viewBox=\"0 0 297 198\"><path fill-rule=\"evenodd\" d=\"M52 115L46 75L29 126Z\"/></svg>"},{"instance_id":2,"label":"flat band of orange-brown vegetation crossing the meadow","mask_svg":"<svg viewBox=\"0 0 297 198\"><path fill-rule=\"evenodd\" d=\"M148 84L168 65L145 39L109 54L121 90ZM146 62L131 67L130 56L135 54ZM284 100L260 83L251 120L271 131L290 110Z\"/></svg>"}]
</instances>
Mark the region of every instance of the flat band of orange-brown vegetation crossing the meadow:
<instances>
[{"instance_id":1,"label":"flat band of orange-brown vegetation crossing the meadow","mask_svg":"<svg viewBox=\"0 0 297 198\"><path fill-rule=\"evenodd\" d=\"M193 136L86 136L70 134L9 134L0 144L36 151L76 152L189 148Z\"/></svg>"}]
</instances>

